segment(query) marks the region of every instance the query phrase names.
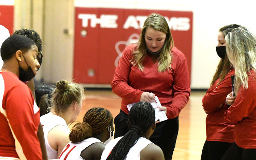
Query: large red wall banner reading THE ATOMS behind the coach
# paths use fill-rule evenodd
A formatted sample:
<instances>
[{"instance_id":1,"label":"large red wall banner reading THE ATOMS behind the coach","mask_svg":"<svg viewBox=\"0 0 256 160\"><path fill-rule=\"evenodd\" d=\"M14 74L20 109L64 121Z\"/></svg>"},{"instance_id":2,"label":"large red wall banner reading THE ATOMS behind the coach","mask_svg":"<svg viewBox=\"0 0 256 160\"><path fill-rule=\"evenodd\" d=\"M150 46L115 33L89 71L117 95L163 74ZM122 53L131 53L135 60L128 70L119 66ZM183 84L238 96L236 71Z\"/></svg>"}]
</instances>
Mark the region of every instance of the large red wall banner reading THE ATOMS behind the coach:
<instances>
[{"instance_id":1,"label":"large red wall banner reading THE ATOMS behind the coach","mask_svg":"<svg viewBox=\"0 0 256 160\"><path fill-rule=\"evenodd\" d=\"M124 48L138 42L140 28L153 12L166 18L190 73L192 12L76 7L74 79L83 84L111 84Z\"/></svg>"}]
</instances>

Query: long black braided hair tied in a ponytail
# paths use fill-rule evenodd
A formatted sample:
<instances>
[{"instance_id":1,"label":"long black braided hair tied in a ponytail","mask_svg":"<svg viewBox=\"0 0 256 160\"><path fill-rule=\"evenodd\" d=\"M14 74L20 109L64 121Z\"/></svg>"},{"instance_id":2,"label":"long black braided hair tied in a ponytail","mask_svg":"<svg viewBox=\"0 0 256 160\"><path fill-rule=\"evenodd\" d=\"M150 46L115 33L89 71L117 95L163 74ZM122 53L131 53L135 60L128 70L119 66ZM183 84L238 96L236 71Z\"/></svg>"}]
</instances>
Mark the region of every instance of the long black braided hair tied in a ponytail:
<instances>
[{"instance_id":1,"label":"long black braided hair tied in a ponytail","mask_svg":"<svg viewBox=\"0 0 256 160\"><path fill-rule=\"evenodd\" d=\"M130 130L120 139L106 160L124 160L132 146L155 123L155 110L148 102L138 102L128 115Z\"/></svg>"}]
</instances>

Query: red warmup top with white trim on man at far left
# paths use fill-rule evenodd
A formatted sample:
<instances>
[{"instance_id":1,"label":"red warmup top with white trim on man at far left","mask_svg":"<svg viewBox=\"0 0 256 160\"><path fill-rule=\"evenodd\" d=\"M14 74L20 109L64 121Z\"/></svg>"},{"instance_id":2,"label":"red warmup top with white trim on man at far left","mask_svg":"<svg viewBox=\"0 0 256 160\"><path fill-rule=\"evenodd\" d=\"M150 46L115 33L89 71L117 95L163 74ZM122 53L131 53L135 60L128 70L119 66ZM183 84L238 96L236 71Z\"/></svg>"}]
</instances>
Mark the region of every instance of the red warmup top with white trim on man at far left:
<instances>
[{"instance_id":1,"label":"red warmup top with white trim on man at far left","mask_svg":"<svg viewBox=\"0 0 256 160\"><path fill-rule=\"evenodd\" d=\"M11 72L0 72L0 103L0 157L41 160L40 111L28 86Z\"/></svg>"}]
</instances>

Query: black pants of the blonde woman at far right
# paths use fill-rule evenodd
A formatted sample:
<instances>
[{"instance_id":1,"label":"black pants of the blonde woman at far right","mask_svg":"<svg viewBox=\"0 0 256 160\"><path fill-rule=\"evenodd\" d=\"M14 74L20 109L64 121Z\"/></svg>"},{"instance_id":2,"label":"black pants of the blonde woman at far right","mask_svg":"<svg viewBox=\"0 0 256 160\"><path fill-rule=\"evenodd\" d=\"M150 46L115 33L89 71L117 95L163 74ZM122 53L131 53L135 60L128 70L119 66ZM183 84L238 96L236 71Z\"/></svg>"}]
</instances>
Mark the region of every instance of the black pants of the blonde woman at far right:
<instances>
[{"instance_id":1,"label":"black pants of the blonde woman at far right","mask_svg":"<svg viewBox=\"0 0 256 160\"><path fill-rule=\"evenodd\" d=\"M222 160L256 160L256 149L244 149L234 142Z\"/></svg>"}]
</instances>

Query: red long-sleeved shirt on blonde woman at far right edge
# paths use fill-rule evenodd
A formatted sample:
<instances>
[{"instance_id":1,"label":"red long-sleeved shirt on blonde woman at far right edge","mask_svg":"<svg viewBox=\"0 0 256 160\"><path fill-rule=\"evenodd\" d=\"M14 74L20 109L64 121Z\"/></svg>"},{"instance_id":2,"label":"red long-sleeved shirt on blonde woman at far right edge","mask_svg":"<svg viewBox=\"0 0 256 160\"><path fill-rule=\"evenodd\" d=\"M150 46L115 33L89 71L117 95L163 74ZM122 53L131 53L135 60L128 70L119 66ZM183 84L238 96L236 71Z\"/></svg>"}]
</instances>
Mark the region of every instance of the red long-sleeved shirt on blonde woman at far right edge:
<instances>
[{"instance_id":1,"label":"red long-sleeved shirt on blonde woman at far right edge","mask_svg":"<svg viewBox=\"0 0 256 160\"><path fill-rule=\"evenodd\" d=\"M225 120L234 124L236 144L241 148L256 148L256 74L248 76L248 88L241 87L236 100L224 114Z\"/></svg>"}]
</instances>

